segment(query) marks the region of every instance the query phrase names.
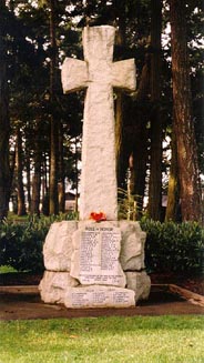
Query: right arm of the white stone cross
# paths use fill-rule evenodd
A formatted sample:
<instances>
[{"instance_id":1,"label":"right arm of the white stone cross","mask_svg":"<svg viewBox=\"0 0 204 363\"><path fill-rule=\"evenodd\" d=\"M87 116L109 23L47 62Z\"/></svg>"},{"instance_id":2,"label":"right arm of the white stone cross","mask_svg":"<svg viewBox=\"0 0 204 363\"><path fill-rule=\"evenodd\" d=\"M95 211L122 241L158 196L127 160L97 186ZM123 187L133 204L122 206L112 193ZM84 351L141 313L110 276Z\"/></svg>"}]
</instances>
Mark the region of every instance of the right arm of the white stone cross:
<instances>
[{"instance_id":1,"label":"right arm of the white stone cross","mask_svg":"<svg viewBox=\"0 0 204 363\"><path fill-rule=\"evenodd\" d=\"M112 63L112 85L134 91L136 87L134 59Z\"/></svg>"}]
</instances>

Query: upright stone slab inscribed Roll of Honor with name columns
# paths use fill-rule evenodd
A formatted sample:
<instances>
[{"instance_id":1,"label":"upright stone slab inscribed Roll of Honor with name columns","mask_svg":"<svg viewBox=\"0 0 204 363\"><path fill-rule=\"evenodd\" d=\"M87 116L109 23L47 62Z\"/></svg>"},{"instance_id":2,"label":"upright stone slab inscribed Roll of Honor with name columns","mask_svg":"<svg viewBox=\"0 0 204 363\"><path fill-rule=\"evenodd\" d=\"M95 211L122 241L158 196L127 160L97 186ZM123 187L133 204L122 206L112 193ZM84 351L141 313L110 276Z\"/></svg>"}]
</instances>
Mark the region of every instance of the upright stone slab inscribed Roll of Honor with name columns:
<instances>
[{"instance_id":1,"label":"upright stone slab inscribed Roll of Honor with name columns","mask_svg":"<svg viewBox=\"0 0 204 363\"><path fill-rule=\"evenodd\" d=\"M121 231L112 222L83 223L73 233L70 274L81 284L124 288L126 279L119 262Z\"/></svg>"}]
</instances>

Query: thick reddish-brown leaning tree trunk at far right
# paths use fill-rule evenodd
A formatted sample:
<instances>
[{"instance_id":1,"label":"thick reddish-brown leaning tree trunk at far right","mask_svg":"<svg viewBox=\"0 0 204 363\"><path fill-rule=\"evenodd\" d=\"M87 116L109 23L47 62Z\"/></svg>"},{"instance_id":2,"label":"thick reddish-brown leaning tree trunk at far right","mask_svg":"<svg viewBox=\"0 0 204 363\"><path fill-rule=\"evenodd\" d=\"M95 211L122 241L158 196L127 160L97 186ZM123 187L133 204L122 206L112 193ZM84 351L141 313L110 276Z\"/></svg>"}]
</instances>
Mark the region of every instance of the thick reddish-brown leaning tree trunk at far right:
<instances>
[{"instance_id":1,"label":"thick reddish-brown leaning tree trunk at far right","mask_svg":"<svg viewBox=\"0 0 204 363\"><path fill-rule=\"evenodd\" d=\"M192 118L185 10L186 1L170 0L173 122L177 145L182 220L201 222L201 184Z\"/></svg>"}]
</instances>

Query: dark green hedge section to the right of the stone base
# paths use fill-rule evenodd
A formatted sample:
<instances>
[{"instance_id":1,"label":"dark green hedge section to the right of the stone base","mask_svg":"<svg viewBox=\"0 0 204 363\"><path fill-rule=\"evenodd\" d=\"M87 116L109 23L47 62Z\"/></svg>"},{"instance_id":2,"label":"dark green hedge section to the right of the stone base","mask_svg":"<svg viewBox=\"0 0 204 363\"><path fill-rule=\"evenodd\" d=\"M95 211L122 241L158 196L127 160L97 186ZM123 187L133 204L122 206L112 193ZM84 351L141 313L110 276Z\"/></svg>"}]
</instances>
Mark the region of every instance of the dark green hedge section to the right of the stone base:
<instances>
[{"instance_id":1,"label":"dark green hedge section to the right of the stone base","mask_svg":"<svg viewBox=\"0 0 204 363\"><path fill-rule=\"evenodd\" d=\"M204 229L198 223L155 222L142 219L146 231L145 263L151 272L201 272L204 253Z\"/></svg>"}]
</instances>

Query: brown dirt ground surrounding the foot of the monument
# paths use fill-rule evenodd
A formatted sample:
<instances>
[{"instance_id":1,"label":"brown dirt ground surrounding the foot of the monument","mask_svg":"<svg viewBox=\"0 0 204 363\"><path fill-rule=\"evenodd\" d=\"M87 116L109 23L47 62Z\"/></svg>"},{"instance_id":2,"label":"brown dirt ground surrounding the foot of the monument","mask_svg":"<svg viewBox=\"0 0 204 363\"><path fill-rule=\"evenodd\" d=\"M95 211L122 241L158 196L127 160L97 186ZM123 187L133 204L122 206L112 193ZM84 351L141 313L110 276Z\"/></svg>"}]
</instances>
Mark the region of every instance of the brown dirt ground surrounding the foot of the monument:
<instances>
[{"instance_id":1,"label":"brown dirt ground surrounding the foot of the monument","mask_svg":"<svg viewBox=\"0 0 204 363\"><path fill-rule=\"evenodd\" d=\"M134 316L134 315L170 315L203 314L204 298L169 284L167 276L152 275L151 294L147 301L139 302L131 309L67 309L62 305L44 304L38 291L40 275L18 274L18 276L0 276L0 320L58 319L82 316ZM18 279L17 279L18 278ZM3 280L3 281L2 281ZM171 283L175 283L171 276ZM176 279L177 281L180 279ZM180 286L194 285L195 292L203 292L203 279L181 279ZM187 284L187 286L186 286ZM185 298L184 298L185 295Z\"/></svg>"}]
</instances>

